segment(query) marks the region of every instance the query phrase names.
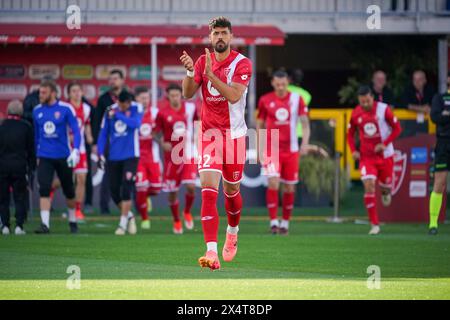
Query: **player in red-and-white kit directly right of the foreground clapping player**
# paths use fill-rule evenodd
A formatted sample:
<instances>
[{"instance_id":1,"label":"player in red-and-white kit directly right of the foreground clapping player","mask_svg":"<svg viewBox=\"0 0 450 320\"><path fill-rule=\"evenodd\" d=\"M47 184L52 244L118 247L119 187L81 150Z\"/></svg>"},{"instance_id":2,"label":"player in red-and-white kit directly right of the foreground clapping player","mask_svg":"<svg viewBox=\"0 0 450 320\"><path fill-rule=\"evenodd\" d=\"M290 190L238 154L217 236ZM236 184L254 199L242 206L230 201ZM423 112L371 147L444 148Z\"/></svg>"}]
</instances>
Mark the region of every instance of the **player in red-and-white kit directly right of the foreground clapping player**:
<instances>
[{"instance_id":1,"label":"player in red-and-white kit directly right of the foreground clapping player","mask_svg":"<svg viewBox=\"0 0 450 320\"><path fill-rule=\"evenodd\" d=\"M309 144L310 128L308 107L302 97L288 91L288 74L276 71L272 76L273 92L263 95L258 104L257 129L267 130L266 147L263 147L262 169L268 177L266 192L270 228L273 234L287 235L289 220L294 208L295 186L298 183L300 153L305 154ZM298 145L297 123L303 128L302 145ZM272 133L278 130L278 141L272 141ZM272 150L273 143L278 148ZM278 154L277 151L278 150ZM278 221L278 193L282 184L283 216Z\"/></svg>"}]
</instances>

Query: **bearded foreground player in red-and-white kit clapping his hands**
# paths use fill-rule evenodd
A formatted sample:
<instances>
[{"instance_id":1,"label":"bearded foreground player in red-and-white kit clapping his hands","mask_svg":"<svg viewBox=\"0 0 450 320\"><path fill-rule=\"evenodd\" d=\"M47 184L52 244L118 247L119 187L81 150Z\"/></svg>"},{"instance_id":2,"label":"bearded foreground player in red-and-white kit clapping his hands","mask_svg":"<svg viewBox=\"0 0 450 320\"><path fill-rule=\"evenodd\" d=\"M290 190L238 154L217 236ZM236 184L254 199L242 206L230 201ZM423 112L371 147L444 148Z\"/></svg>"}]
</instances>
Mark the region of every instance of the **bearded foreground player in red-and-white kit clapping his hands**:
<instances>
[{"instance_id":1,"label":"bearded foreground player in red-and-white kit clapping his hands","mask_svg":"<svg viewBox=\"0 0 450 320\"><path fill-rule=\"evenodd\" d=\"M237 252L237 235L242 210L240 182L245 163L245 103L252 75L251 61L231 50L231 23L224 17L209 23L209 40L214 49L205 49L197 62L184 51L180 60L187 70L183 95L191 98L201 87L203 103L199 138L199 174L202 186L201 221L206 254L199 258L201 267L220 268L217 253L219 214L217 196L223 178L225 210L228 218L222 250L225 261Z\"/></svg>"}]
</instances>

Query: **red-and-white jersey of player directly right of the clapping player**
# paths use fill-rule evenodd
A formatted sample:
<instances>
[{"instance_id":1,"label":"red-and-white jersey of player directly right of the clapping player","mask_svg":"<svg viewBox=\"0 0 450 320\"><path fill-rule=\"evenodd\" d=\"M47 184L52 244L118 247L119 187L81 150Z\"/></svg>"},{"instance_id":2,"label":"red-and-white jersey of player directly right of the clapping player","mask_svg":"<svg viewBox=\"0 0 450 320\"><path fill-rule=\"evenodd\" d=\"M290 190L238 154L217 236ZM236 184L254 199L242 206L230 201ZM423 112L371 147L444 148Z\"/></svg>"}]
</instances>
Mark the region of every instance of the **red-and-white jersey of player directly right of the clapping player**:
<instances>
[{"instance_id":1,"label":"red-and-white jersey of player directly right of the clapping player","mask_svg":"<svg viewBox=\"0 0 450 320\"><path fill-rule=\"evenodd\" d=\"M300 116L308 116L308 106L297 93L280 98L275 92L263 95L258 103L258 119L267 129L267 146L271 145L271 130L279 130L279 151L297 152L297 122Z\"/></svg>"}]
</instances>

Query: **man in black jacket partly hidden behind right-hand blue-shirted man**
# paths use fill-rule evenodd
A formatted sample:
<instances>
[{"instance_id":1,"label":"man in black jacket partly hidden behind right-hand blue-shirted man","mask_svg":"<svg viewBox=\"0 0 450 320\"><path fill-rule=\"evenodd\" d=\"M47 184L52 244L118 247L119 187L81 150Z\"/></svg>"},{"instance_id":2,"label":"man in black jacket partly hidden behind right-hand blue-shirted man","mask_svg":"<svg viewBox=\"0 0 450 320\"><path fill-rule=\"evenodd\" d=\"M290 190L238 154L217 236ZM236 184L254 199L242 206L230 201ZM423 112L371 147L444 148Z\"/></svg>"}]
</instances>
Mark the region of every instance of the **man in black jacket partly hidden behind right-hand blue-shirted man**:
<instances>
[{"instance_id":1,"label":"man in black jacket partly hidden behind right-hand blue-shirted man","mask_svg":"<svg viewBox=\"0 0 450 320\"><path fill-rule=\"evenodd\" d=\"M94 144L91 150L95 154L97 154L97 139L100 133L100 127L105 111L110 105L117 102L117 97L125 86L123 72L119 69L111 70L109 73L108 82L110 90L98 98L97 107L93 109L93 112L91 113L92 135L94 137ZM107 154L107 152L108 146L106 147L105 153ZM109 177L106 172L107 171L105 171L102 183L100 185L100 212L102 214L109 214Z\"/></svg>"}]
</instances>

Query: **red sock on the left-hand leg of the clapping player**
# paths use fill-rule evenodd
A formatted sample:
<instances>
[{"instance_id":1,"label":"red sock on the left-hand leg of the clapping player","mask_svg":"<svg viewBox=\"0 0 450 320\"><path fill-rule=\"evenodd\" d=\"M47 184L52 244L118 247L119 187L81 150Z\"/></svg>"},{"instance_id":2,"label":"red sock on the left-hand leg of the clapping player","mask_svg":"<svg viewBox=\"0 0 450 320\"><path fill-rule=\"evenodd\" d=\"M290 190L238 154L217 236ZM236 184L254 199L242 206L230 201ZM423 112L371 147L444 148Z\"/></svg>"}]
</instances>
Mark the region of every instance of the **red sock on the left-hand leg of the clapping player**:
<instances>
[{"instance_id":1,"label":"red sock on the left-hand leg of the clapping player","mask_svg":"<svg viewBox=\"0 0 450 320\"><path fill-rule=\"evenodd\" d=\"M202 189L202 227L205 242L217 242L219 232L219 212L217 211L218 190L214 188Z\"/></svg>"}]
</instances>

